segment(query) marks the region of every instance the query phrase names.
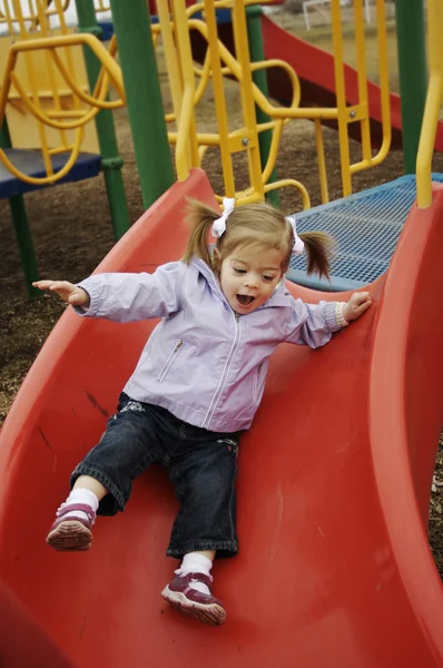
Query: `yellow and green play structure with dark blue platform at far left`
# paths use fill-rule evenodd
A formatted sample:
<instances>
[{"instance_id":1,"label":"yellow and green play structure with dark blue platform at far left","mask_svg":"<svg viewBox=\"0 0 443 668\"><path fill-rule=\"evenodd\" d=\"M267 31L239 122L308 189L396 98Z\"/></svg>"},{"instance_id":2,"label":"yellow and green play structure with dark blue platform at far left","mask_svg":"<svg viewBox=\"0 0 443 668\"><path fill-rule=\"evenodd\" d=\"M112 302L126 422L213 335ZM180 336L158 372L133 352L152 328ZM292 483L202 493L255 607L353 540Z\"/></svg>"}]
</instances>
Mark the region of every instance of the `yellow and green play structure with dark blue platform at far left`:
<instances>
[{"instance_id":1,"label":"yellow and green play structure with dark blue platform at far left","mask_svg":"<svg viewBox=\"0 0 443 668\"><path fill-rule=\"evenodd\" d=\"M92 3L91 8L95 20ZM51 28L55 16L57 30ZM35 0L26 12L19 0L6 0L0 26L7 32L0 39L0 197L9 198L33 294L38 268L24 193L97 176L102 169L116 238L129 227L122 161L109 115L124 104L125 90L119 67L97 37L67 27L61 0L52 6ZM110 86L117 94L114 101L107 99ZM91 121L99 110L97 141Z\"/></svg>"}]
</instances>

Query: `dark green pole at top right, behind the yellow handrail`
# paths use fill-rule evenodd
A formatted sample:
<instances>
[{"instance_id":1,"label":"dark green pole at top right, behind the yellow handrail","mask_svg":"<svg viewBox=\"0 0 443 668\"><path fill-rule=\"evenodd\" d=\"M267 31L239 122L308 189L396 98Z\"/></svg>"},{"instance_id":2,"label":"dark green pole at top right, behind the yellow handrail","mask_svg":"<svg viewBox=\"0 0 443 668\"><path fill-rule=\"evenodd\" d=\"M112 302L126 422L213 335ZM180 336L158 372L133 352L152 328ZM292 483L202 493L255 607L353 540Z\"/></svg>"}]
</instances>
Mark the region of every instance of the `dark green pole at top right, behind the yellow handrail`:
<instances>
[{"instance_id":1,"label":"dark green pole at top right, behind the yellow handrail","mask_svg":"<svg viewBox=\"0 0 443 668\"><path fill-rule=\"evenodd\" d=\"M427 87L423 0L395 0L395 13L404 170L414 174Z\"/></svg>"}]
</instances>

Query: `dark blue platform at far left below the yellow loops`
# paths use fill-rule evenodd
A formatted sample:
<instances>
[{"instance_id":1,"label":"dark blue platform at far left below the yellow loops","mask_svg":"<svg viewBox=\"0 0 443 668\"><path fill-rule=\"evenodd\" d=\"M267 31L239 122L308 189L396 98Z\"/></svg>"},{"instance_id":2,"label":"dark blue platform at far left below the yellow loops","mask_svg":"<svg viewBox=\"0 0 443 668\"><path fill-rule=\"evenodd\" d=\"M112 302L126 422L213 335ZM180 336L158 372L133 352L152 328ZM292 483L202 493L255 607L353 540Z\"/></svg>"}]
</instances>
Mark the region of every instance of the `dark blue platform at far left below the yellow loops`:
<instances>
[{"instance_id":1,"label":"dark blue platform at far left below the yellow loops","mask_svg":"<svg viewBox=\"0 0 443 668\"><path fill-rule=\"evenodd\" d=\"M35 178L43 178L46 176L46 169L43 158L40 150L20 149L20 148L4 148L3 149L12 165L17 167L23 174L32 176ZM68 161L71 154L62 153L52 156L52 167L55 173L59 171ZM97 176L100 170L101 157L96 154L81 153L75 165L68 171L68 174L56 181L53 185L66 184L69 181L82 180L85 178L91 178ZM31 190L40 190L41 188L50 188L51 186L35 186L27 184L16 178L6 167L0 163L0 199L7 199L12 195L23 195ZM53 187L53 186L52 186Z\"/></svg>"}]
</instances>

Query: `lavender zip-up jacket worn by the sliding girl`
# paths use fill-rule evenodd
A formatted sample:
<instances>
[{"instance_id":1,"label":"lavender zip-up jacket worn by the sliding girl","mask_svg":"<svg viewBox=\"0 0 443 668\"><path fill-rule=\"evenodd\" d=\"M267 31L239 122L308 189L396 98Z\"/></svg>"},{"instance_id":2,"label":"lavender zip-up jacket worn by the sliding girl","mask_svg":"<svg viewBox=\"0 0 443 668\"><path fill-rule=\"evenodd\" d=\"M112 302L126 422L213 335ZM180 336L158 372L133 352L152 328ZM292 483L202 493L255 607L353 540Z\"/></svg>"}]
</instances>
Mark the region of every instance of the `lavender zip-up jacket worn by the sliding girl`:
<instances>
[{"instance_id":1,"label":"lavender zip-up jacket worn by the sliding girl","mask_svg":"<svg viewBox=\"0 0 443 668\"><path fill-rule=\"evenodd\" d=\"M121 323L163 318L124 391L216 432L250 426L280 342L315 348L339 328L335 302L304 304L284 284L263 306L237 315L199 258L154 274L97 274L79 285L90 296L81 315Z\"/></svg>"}]
</instances>

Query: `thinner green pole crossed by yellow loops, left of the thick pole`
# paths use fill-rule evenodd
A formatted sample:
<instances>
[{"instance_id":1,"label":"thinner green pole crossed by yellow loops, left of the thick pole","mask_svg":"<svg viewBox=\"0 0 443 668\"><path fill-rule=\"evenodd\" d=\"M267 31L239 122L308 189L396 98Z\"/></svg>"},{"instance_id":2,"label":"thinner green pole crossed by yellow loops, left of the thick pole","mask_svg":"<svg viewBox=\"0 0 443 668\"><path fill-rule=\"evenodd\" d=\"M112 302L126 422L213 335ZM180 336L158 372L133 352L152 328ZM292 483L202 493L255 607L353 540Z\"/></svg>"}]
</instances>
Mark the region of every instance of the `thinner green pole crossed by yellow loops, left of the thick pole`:
<instances>
[{"instance_id":1,"label":"thinner green pole crossed by yellow loops, left of the thick pole","mask_svg":"<svg viewBox=\"0 0 443 668\"><path fill-rule=\"evenodd\" d=\"M76 8L79 32L90 32L99 38L101 36L101 28L97 24L93 0L76 0ZM83 52L89 87L93 90L101 65L88 48L85 48ZM121 174L124 160L118 153L112 112L109 109L102 109L98 112L96 116L96 127L114 236L118 240L129 229L130 222Z\"/></svg>"}]
</instances>

